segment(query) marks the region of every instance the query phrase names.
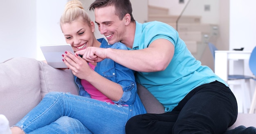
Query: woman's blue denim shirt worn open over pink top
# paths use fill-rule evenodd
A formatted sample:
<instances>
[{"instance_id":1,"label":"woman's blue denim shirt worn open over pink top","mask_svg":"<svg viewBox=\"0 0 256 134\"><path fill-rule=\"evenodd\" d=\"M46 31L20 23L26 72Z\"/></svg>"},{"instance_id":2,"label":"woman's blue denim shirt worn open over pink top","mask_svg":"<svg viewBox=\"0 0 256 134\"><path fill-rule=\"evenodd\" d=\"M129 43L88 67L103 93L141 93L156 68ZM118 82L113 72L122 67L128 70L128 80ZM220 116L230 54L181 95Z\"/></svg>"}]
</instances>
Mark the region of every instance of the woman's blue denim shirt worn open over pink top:
<instances>
[{"instance_id":1,"label":"woman's blue denim shirt worn open over pink top","mask_svg":"<svg viewBox=\"0 0 256 134\"><path fill-rule=\"evenodd\" d=\"M108 42L104 38L98 39L98 41L101 42L100 48L127 50L126 45L124 45L123 43L118 42L113 45L108 45ZM115 104L131 105L136 103L136 105L140 106L141 109L144 108L139 98L139 95L137 94L137 85L135 82L134 71L116 63L109 58L106 58L103 61L97 63L97 66L94 70L108 80L120 84L120 86L123 88L123 96L119 101L113 101ZM75 82L79 86L79 95L84 97L90 97L90 95L83 89L80 79L76 76Z\"/></svg>"}]
</instances>

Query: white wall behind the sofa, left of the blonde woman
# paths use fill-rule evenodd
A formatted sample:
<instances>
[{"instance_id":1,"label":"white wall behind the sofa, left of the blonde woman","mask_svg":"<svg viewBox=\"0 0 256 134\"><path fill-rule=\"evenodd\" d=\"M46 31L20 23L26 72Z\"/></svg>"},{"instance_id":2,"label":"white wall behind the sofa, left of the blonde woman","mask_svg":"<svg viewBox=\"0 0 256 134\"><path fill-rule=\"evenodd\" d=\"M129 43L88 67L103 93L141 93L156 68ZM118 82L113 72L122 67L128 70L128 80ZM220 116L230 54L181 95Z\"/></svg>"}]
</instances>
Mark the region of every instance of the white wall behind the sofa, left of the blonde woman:
<instances>
[{"instance_id":1,"label":"white wall behind the sofa, left of the blonde woman","mask_svg":"<svg viewBox=\"0 0 256 134\"><path fill-rule=\"evenodd\" d=\"M4 0L0 4L0 62L13 57L43 60L39 45L65 43L59 19L67 0Z\"/></svg>"}]
</instances>

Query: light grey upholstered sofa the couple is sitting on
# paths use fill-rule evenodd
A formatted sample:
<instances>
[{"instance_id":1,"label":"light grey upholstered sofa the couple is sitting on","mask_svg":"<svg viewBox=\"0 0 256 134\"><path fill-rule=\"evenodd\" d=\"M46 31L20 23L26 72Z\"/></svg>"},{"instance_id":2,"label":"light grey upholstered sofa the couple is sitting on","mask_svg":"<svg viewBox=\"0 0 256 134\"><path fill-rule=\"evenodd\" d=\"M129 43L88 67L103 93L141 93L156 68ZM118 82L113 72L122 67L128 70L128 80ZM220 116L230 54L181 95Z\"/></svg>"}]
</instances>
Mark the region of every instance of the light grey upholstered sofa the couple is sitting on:
<instances>
[{"instance_id":1,"label":"light grey upholstered sofa the couple is sitting on","mask_svg":"<svg viewBox=\"0 0 256 134\"><path fill-rule=\"evenodd\" d=\"M0 114L17 123L51 91L78 95L71 70L54 69L33 58L17 57L0 63ZM148 113L162 113L164 108L151 93L138 84L138 93ZM256 114L239 114L236 123L256 126Z\"/></svg>"}]
</instances>

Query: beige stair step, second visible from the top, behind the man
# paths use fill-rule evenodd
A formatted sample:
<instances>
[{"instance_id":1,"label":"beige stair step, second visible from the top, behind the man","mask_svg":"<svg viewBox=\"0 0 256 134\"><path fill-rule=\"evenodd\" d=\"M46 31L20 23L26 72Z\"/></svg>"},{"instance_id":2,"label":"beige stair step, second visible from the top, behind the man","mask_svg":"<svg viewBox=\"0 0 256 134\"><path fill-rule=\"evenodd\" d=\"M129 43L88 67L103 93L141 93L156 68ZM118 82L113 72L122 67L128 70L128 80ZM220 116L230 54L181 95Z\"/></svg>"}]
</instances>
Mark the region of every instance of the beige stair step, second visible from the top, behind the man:
<instances>
[{"instance_id":1,"label":"beige stair step, second visible from the top, behind the man","mask_svg":"<svg viewBox=\"0 0 256 134\"><path fill-rule=\"evenodd\" d=\"M175 23L178 16L174 15L150 15L148 14L148 21L159 21L164 23ZM200 16L182 16L179 23L200 23Z\"/></svg>"}]
</instances>

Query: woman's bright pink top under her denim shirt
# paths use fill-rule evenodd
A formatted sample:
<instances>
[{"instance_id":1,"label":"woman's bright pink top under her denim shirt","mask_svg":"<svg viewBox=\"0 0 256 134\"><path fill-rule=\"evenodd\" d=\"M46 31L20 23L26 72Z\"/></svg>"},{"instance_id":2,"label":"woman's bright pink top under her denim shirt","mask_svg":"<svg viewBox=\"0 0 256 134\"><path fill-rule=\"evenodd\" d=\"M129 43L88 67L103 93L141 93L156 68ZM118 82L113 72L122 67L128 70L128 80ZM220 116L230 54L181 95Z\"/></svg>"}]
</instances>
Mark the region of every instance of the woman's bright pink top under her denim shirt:
<instances>
[{"instance_id":1,"label":"woman's bright pink top under her denim shirt","mask_svg":"<svg viewBox=\"0 0 256 134\"><path fill-rule=\"evenodd\" d=\"M91 67L91 69L94 70L95 65L92 65L91 63L89 63L89 66ZM111 99L109 99L108 97L103 95L103 93L101 93L98 89L96 89L94 86L92 86L92 84L90 84L88 81L81 80L81 84L82 84L84 90L87 91L91 95L92 99L97 99L102 102L109 102L111 104L114 104L114 102L112 102Z\"/></svg>"}]
</instances>

